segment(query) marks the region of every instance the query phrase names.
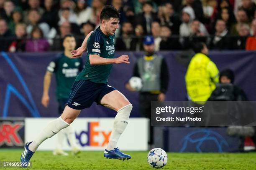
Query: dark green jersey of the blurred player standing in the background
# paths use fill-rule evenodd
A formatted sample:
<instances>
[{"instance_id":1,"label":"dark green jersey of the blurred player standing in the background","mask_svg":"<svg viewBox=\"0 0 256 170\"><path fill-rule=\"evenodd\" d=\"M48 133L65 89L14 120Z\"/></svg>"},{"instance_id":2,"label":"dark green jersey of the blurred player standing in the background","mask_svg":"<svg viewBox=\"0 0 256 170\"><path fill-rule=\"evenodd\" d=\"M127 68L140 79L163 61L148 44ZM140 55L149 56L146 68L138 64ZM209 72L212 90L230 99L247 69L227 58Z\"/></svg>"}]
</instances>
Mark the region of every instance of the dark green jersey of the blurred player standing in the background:
<instances>
[{"instance_id":1,"label":"dark green jersey of the blurred player standing in the background","mask_svg":"<svg viewBox=\"0 0 256 170\"><path fill-rule=\"evenodd\" d=\"M56 75L57 99L69 98L74 80L82 69L83 62L81 58L69 58L64 53L50 62L47 70Z\"/></svg>"}]
</instances>

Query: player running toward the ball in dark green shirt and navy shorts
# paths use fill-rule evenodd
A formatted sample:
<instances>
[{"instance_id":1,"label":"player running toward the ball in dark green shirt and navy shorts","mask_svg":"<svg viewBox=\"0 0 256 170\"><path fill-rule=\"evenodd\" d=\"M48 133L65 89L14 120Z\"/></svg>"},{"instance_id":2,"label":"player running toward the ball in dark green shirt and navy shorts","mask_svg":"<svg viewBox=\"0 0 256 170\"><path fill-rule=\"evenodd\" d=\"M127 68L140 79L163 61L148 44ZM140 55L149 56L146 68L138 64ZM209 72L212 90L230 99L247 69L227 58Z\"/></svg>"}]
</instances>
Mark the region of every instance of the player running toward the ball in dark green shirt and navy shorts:
<instances>
[{"instance_id":1,"label":"player running toward the ball in dark green shirt and navy shorts","mask_svg":"<svg viewBox=\"0 0 256 170\"><path fill-rule=\"evenodd\" d=\"M123 160L131 158L130 155L120 152L116 145L128 124L132 104L121 92L107 84L113 64L130 63L128 55L114 58L114 37L115 30L118 29L119 17L118 10L112 6L105 6L100 13L100 26L85 37L81 47L72 51L73 57L79 57L87 46L85 67L74 82L62 115L50 122L35 140L25 144L20 157L21 162L29 162L44 140L69 127L81 110L90 107L93 102L117 111L104 157Z\"/></svg>"}]
</instances>

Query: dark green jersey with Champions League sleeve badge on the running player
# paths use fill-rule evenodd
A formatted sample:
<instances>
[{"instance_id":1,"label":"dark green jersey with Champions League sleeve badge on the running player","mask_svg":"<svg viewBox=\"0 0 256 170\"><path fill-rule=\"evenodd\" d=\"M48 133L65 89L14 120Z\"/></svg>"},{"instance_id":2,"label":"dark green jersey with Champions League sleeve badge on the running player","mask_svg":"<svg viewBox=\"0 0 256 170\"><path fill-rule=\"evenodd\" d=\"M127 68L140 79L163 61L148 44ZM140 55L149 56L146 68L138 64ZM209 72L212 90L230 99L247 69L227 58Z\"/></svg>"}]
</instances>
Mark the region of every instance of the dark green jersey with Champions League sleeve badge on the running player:
<instances>
[{"instance_id":1,"label":"dark green jersey with Champions League sleeve badge on the running player","mask_svg":"<svg viewBox=\"0 0 256 170\"><path fill-rule=\"evenodd\" d=\"M90 65L89 56L92 54L97 54L103 58L114 58L114 37L115 35L107 36L103 34L100 27L92 32L87 40L87 60L85 67L84 70L77 76L76 81L90 80L96 83L107 84L112 64Z\"/></svg>"}]
</instances>

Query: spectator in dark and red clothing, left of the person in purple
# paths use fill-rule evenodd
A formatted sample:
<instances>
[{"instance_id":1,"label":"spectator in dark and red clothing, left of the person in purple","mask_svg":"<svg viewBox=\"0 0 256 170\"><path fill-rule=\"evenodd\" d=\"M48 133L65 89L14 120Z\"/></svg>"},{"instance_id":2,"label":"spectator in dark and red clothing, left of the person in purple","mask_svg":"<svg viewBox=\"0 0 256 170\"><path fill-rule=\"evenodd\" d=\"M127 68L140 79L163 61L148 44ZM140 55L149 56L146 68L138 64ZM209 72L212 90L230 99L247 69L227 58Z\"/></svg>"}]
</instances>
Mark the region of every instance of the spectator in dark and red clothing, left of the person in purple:
<instances>
[{"instance_id":1,"label":"spectator in dark and red clothing, left of the person in purple","mask_svg":"<svg viewBox=\"0 0 256 170\"><path fill-rule=\"evenodd\" d=\"M15 40L11 43L8 52L23 52L26 46L26 24L17 23L15 25Z\"/></svg>"}]
</instances>

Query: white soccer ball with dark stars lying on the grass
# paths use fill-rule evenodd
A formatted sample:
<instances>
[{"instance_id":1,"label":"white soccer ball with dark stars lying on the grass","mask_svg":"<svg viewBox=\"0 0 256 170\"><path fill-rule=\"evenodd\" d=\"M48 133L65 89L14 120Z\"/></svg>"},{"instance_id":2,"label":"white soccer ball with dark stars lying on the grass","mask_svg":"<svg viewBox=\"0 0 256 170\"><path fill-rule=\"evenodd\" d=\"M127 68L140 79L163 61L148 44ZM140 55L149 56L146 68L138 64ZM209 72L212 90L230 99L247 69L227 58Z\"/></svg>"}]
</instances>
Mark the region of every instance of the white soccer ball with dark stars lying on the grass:
<instances>
[{"instance_id":1,"label":"white soccer ball with dark stars lying on the grass","mask_svg":"<svg viewBox=\"0 0 256 170\"><path fill-rule=\"evenodd\" d=\"M148 164L153 168L163 168L167 163L167 154L161 148L154 148L148 153Z\"/></svg>"}]
</instances>

